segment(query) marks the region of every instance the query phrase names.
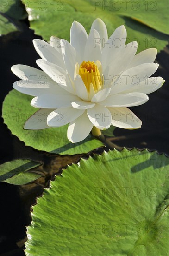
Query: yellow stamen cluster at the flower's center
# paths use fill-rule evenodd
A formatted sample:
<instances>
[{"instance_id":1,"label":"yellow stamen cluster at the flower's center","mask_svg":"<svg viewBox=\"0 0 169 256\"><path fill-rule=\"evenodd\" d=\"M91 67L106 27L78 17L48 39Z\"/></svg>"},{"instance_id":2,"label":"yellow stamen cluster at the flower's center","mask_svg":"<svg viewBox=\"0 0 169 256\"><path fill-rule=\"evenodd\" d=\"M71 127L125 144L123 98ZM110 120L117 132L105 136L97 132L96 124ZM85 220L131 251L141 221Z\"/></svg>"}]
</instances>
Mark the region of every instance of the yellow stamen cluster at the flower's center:
<instances>
[{"instance_id":1,"label":"yellow stamen cluster at the flower's center","mask_svg":"<svg viewBox=\"0 0 169 256\"><path fill-rule=\"evenodd\" d=\"M102 79L99 69L94 61L83 61L79 67L79 75L81 76L88 93L93 89L98 92L102 88Z\"/></svg>"}]
</instances>

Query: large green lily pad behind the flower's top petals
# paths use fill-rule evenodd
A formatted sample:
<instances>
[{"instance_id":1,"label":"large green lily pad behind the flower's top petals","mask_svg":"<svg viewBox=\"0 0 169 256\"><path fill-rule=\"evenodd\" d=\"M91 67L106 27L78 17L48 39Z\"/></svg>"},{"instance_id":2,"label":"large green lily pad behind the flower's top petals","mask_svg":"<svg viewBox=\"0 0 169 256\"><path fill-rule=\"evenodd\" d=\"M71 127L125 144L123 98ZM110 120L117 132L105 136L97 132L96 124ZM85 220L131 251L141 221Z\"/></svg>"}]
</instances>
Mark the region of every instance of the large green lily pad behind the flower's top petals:
<instances>
[{"instance_id":1,"label":"large green lily pad behind the flower's top petals","mask_svg":"<svg viewBox=\"0 0 169 256\"><path fill-rule=\"evenodd\" d=\"M31 0L23 0L23 2L29 10L31 8L31 14L29 15L31 28L47 41L49 41L51 35L69 40L70 27L74 20L79 21L89 33L92 22L99 17L106 23L109 36L115 28L125 25L127 42L138 41L138 52L150 47L155 47L160 51L168 43L168 35L166 35L168 22L167 20L164 22L166 15L168 15L168 9L165 5L163 7L163 3L158 3L155 12L150 10L150 5L153 5L155 1L152 1L152 4L148 3L147 8L149 10L146 12L142 10L146 8L143 3L140 3L141 7L137 12L132 10L135 8L134 4L132 8L127 8L124 12L124 1L48 0L42 2L37 0L33 3L33 6ZM124 7L118 10L117 2ZM106 4L110 7L106 7ZM140 16L142 17L141 21L138 19ZM147 26L145 26L145 23Z\"/></svg>"}]
</instances>

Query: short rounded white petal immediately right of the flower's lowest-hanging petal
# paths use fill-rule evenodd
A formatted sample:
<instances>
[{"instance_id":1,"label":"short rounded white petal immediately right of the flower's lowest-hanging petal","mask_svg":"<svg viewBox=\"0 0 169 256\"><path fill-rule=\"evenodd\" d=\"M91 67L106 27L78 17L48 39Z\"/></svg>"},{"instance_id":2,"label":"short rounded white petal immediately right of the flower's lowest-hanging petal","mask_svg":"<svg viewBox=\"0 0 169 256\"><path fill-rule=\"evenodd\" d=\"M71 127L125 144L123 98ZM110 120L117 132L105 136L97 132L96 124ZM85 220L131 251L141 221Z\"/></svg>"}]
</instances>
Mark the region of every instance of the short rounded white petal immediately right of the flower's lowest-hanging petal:
<instances>
[{"instance_id":1,"label":"short rounded white petal immediately right of the flower's lowest-hanging petal","mask_svg":"<svg viewBox=\"0 0 169 256\"><path fill-rule=\"evenodd\" d=\"M111 125L110 111L99 104L88 109L88 118L94 126L101 130L108 129Z\"/></svg>"}]
</instances>

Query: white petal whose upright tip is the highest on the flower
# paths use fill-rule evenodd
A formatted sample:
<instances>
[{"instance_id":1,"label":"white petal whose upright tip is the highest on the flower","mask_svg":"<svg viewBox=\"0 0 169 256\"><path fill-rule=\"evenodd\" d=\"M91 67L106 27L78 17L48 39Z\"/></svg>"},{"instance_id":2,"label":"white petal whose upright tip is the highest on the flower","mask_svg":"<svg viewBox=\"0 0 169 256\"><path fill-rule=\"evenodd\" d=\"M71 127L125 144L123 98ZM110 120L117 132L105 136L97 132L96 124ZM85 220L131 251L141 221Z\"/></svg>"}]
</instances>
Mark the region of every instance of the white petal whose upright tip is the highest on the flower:
<instances>
[{"instance_id":1,"label":"white petal whose upright tip is the highest on the flower","mask_svg":"<svg viewBox=\"0 0 169 256\"><path fill-rule=\"evenodd\" d=\"M107 28L105 23L103 22L103 20L101 20L100 18L97 18L96 20L94 20L94 22L92 23L92 27L90 30L97 30L97 32L99 32L100 35L100 43L106 42L108 40L108 35L107 35Z\"/></svg>"}]
</instances>

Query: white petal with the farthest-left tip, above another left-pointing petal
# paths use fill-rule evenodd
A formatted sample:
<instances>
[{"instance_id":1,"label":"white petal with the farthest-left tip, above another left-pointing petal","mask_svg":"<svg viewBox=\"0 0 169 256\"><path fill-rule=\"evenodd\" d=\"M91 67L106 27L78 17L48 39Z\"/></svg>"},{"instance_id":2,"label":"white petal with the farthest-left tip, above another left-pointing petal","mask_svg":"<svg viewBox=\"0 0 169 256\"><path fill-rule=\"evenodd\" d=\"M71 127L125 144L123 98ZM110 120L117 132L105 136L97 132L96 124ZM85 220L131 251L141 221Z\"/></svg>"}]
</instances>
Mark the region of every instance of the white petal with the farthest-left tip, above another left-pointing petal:
<instances>
[{"instance_id":1,"label":"white petal with the farthest-left tip, above another left-pointing petal","mask_svg":"<svg viewBox=\"0 0 169 256\"><path fill-rule=\"evenodd\" d=\"M19 64L13 65L11 70L16 76L23 80L46 81L49 83L54 83L54 81L52 81L52 79L44 71L34 67Z\"/></svg>"}]
</instances>

